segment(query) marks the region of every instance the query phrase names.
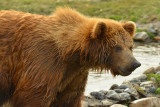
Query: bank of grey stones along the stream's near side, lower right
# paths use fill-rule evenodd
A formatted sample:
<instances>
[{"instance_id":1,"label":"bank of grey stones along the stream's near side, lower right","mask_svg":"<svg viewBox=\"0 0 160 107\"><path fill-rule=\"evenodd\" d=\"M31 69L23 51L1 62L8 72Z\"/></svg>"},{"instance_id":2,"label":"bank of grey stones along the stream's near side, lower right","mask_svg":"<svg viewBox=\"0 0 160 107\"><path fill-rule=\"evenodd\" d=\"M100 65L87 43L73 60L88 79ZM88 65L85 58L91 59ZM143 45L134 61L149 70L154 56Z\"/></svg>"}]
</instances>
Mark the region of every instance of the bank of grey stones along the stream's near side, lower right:
<instances>
[{"instance_id":1,"label":"bank of grey stones along the stream's near side, lower right","mask_svg":"<svg viewBox=\"0 0 160 107\"><path fill-rule=\"evenodd\" d=\"M113 84L108 91L91 92L85 96L82 107L133 107L137 103L143 103L143 98L147 98L144 99L145 104L153 102L151 100L154 99L154 107L159 106L160 66L149 68L139 77L124 81L121 85Z\"/></svg>"}]
</instances>

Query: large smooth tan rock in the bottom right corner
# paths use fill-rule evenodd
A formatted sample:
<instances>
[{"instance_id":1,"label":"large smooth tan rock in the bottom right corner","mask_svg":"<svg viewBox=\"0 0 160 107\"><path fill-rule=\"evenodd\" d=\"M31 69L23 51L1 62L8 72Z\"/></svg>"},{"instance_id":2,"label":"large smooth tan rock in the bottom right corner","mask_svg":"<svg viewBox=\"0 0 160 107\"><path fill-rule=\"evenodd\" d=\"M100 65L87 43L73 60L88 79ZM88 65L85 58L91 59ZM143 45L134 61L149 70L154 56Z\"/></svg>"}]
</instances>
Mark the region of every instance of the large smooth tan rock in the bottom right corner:
<instances>
[{"instance_id":1,"label":"large smooth tan rock in the bottom right corner","mask_svg":"<svg viewBox=\"0 0 160 107\"><path fill-rule=\"evenodd\" d=\"M159 107L160 99L156 97L143 98L131 102L129 107Z\"/></svg>"}]
</instances>

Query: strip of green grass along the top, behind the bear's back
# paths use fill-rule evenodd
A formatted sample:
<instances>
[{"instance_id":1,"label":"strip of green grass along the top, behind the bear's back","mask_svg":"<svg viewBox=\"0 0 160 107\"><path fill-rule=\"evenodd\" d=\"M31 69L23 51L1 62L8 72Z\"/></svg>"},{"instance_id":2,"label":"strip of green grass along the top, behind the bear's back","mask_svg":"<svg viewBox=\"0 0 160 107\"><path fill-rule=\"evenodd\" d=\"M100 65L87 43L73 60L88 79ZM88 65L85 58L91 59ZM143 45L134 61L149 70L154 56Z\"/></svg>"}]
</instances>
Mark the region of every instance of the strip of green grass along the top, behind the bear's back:
<instances>
[{"instance_id":1,"label":"strip of green grass along the top, behind the bear's back","mask_svg":"<svg viewBox=\"0 0 160 107\"><path fill-rule=\"evenodd\" d=\"M0 10L14 9L43 15L51 14L58 6L115 20L146 23L160 19L159 0L0 0Z\"/></svg>"}]
</instances>

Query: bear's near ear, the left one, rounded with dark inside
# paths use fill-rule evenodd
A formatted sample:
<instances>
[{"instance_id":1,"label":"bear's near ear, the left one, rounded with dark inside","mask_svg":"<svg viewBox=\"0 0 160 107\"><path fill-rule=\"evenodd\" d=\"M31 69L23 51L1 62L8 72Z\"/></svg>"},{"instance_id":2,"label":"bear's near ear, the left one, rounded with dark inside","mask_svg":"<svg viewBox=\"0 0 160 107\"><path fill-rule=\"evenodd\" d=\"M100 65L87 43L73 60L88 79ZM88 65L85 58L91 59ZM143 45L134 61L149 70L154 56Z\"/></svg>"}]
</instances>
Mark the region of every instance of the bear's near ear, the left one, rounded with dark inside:
<instances>
[{"instance_id":1,"label":"bear's near ear, the left one, rounded with dark inside","mask_svg":"<svg viewBox=\"0 0 160 107\"><path fill-rule=\"evenodd\" d=\"M97 22L92 30L91 37L94 39L102 39L107 31L107 25L104 22Z\"/></svg>"}]
</instances>

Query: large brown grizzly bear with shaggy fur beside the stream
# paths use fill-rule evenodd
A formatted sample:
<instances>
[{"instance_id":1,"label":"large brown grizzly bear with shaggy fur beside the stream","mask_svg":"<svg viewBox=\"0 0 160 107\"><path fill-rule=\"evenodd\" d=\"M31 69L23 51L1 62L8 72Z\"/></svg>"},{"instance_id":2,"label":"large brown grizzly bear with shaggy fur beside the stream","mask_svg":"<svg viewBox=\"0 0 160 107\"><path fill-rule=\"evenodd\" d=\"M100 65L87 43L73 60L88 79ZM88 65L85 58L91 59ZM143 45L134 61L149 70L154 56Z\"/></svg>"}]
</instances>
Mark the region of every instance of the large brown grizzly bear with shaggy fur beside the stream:
<instances>
[{"instance_id":1,"label":"large brown grizzly bear with shaggy fur beside the stream","mask_svg":"<svg viewBox=\"0 0 160 107\"><path fill-rule=\"evenodd\" d=\"M70 8L50 16L0 11L0 105L80 107L88 70L127 76L135 24L89 18Z\"/></svg>"}]
</instances>

